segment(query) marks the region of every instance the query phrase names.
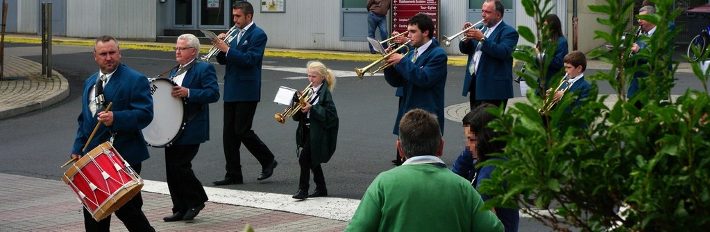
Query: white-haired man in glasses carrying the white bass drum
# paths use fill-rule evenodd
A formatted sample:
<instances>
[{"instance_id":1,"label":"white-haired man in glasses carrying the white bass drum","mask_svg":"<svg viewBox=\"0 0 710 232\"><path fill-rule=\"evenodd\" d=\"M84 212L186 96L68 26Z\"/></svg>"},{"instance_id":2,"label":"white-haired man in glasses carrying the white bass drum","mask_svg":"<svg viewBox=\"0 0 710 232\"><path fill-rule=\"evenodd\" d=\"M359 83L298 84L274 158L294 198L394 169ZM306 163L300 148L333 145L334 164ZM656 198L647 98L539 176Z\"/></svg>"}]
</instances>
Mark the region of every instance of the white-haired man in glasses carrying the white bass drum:
<instances>
[{"instance_id":1,"label":"white-haired man in glasses carrying the white bass drum","mask_svg":"<svg viewBox=\"0 0 710 232\"><path fill-rule=\"evenodd\" d=\"M173 215L163 221L192 220L204 208L207 193L192 171L192 159L200 143L209 140L209 104L219 100L217 72L209 62L200 62L200 39L183 34L175 44L175 60L180 65L170 71L178 86L172 96L187 101L187 125L172 145L165 148L165 177L168 180Z\"/></svg>"}]
</instances>

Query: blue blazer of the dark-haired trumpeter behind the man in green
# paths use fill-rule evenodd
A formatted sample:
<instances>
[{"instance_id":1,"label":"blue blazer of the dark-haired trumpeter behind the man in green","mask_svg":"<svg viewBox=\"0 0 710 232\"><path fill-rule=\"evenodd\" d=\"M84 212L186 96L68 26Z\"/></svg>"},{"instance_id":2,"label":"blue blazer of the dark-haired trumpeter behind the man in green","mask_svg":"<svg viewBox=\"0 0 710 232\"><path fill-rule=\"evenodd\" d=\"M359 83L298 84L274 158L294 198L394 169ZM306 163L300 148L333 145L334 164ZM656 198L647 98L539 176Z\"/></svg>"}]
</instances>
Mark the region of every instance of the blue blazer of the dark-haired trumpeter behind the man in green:
<instances>
[{"instance_id":1,"label":"blue blazer of the dark-haired trumpeter behind the man in green","mask_svg":"<svg viewBox=\"0 0 710 232\"><path fill-rule=\"evenodd\" d=\"M395 67L384 70L387 83L402 87L403 92L393 133L399 135L399 121L412 109L435 114L444 133L444 87L449 57L437 43L432 43L416 62L412 62L413 55L414 51L410 51Z\"/></svg>"}]
</instances>

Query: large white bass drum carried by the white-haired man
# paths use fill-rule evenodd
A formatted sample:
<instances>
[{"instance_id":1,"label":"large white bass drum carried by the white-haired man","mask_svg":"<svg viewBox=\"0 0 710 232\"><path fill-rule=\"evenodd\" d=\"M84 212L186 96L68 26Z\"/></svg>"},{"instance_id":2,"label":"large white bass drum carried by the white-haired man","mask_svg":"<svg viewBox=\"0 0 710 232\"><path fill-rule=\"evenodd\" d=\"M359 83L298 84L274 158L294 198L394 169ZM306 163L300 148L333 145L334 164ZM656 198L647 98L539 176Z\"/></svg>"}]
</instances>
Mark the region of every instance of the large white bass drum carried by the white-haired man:
<instances>
[{"instance_id":1,"label":"large white bass drum carried by the white-haired man","mask_svg":"<svg viewBox=\"0 0 710 232\"><path fill-rule=\"evenodd\" d=\"M153 121L143 128L146 144L156 148L173 145L187 124L187 101L170 96L173 87L178 86L170 79L151 79L153 95Z\"/></svg>"}]
</instances>

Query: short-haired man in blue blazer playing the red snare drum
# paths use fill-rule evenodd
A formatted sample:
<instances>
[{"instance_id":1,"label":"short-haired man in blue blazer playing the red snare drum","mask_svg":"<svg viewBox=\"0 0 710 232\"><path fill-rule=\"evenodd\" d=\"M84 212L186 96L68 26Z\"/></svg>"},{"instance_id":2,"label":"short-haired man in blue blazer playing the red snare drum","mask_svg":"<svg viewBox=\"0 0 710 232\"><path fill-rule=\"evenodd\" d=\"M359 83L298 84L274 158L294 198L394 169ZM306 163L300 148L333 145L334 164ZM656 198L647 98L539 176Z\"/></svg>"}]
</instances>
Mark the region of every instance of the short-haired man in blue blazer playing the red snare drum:
<instances>
[{"instance_id":1,"label":"short-haired man in blue blazer playing the red snare drum","mask_svg":"<svg viewBox=\"0 0 710 232\"><path fill-rule=\"evenodd\" d=\"M94 60L99 65L99 72L84 82L82 112L77 118L79 128L71 156L78 159L84 155L82 148L87 141L88 151L112 140L114 148L140 174L141 162L150 157L141 133L141 129L153 120L153 97L148 79L121 64L119 42L109 35L97 38ZM109 103L113 103L111 109L104 112ZM97 123L102 125L89 140ZM115 212L129 231L155 231L143 214L142 206L143 198L139 192ZM110 215L95 221L84 208L86 231L109 231L110 223Z\"/></svg>"}]
</instances>

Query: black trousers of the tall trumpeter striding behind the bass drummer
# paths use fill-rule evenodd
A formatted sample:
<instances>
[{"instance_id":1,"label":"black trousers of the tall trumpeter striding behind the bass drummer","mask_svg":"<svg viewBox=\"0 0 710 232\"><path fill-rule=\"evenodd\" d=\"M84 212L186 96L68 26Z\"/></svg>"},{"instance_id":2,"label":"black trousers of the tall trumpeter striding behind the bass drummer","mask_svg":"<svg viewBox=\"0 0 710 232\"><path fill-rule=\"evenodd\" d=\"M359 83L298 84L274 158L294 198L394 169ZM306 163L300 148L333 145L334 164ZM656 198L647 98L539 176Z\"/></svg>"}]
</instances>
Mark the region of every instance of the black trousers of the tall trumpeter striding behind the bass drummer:
<instances>
[{"instance_id":1,"label":"black trousers of the tall trumpeter striding behind the bass drummer","mask_svg":"<svg viewBox=\"0 0 710 232\"><path fill-rule=\"evenodd\" d=\"M242 180L241 144L254 155L263 170L274 160L273 153L251 130L251 123L256 113L258 101L224 102L224 128L222 128L222 145L224 146L224 159L226 160L225 178Z\"/></svg>"}]
</instances>

